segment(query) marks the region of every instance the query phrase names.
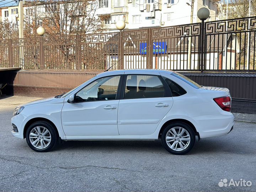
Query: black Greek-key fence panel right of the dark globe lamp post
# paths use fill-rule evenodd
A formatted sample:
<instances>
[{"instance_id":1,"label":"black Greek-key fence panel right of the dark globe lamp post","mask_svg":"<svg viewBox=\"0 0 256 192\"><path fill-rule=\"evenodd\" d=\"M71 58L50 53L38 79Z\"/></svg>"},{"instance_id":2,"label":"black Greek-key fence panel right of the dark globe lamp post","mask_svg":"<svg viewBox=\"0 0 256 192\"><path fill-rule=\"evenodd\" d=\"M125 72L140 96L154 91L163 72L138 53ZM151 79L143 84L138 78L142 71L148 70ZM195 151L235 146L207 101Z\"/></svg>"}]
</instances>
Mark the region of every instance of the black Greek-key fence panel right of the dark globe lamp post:
<instances>
[{"instance_id":1,"label":"black Greek-key fence panel right of the dark globe lamp post","mask_svg":"<svg viewBox=\"0 0 256 192\"><path fill-rule=\"evenodd\" d=\"M204 33L204 70L256 70L256 17L206 22Z\"/></svg>"}]
</instances>

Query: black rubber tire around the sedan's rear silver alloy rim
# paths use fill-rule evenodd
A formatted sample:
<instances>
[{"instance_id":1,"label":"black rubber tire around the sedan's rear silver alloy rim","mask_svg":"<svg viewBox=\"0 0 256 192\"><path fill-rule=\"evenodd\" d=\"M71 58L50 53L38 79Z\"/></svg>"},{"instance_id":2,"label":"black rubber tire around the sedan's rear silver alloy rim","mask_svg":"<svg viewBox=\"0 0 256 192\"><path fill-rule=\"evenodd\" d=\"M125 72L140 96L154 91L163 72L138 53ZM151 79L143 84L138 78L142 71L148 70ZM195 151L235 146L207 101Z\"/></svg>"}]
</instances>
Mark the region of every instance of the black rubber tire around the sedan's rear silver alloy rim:
<instances>
[{"instance_id":1,"label":"black rubber tire around the sedan's rear silver alloy rim","mask_svg":"<svg viewBox=\"0 0 256 192\"><path fill-rule=\"evenodd\" d=\"M187 130L186 133L188 133L189 136L190 136L190 142L182 141L182 142L184 142L185 144L188 144L188 145L186 145L185 149L183 149L183 150L181 149L181 151L176 151L176 150L173 150L173 149L170 148L169 145L173 144L174 141L172 143L170 142L169 145L166 142L167 132L168 132L168 134L170 134L169 130L172 129L172 128L175 128L175 127L181 127L183 129ZM171 137L175 137L175 136L171 135ZM161 143L162 143L162 145L164 146L164 148L169 153L174 154L174 155L184 155L184 154L188 153L193 148L195 141L196 141L196 136L195 136L195 133L194 133L193 129L188 124L183 123L183 122L174 122L174 123L169 124L168 126L166 126L164 128L164 130L162 131L162 134L161 134ZM175 142L176 142L176 140L175 140ZM179 142L181 142L181 141L179 141ZM178 142L176 142L176 143L178 143ZM178 144L179 144L179 147L180 147L180 143L178 143Z\"/></svg>"}]
</instances>

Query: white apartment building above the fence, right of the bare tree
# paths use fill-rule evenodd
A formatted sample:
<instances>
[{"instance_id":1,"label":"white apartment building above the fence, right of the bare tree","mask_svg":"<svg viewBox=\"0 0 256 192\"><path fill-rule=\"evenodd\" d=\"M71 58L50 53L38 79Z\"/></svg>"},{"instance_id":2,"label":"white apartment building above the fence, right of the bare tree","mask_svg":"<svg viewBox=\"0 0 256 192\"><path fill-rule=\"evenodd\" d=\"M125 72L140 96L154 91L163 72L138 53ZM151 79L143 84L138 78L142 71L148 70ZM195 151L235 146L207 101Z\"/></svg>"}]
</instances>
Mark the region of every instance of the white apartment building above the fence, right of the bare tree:
<instances>
[{"instance_id":1,"label":"white apartment building above the fence, right of the bare tree","mask_svg":"<svg viewBox=\"0 0 256 192\"><path fill-rule=\"evenodd\" d=\"M126 28L173 26L190 23L191 0L99 0L97 16L105 15L106 30L116 30L115 23L123 20ZM219 0L194 0L193 22L200 22L197 11L210 10L207 21L218 20Z\"/></svg>"}]
</instances>

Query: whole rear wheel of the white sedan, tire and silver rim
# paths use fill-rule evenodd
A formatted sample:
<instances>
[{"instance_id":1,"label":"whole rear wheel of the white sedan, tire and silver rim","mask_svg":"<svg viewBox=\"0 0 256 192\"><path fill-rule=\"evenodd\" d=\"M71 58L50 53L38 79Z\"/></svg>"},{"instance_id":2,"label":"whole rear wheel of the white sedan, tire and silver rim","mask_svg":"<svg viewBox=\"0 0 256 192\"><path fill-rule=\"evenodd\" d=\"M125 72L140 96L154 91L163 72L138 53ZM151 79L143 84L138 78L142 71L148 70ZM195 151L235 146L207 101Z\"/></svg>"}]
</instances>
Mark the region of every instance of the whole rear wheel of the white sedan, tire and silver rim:
<instances>
[{"instance_id":1,"label":"whole rear wheel of the white sedan, tire and silver rim","mask_svg":"<svg viewBox=\"0 0 256 192\"><path fill-rule=\"evenodd\" d=\"M161 135L164 148L174 155L184 155L194 146L196 137L193 129L186 123L175 122L165 127Z\"/></svg>"}]
</instances>

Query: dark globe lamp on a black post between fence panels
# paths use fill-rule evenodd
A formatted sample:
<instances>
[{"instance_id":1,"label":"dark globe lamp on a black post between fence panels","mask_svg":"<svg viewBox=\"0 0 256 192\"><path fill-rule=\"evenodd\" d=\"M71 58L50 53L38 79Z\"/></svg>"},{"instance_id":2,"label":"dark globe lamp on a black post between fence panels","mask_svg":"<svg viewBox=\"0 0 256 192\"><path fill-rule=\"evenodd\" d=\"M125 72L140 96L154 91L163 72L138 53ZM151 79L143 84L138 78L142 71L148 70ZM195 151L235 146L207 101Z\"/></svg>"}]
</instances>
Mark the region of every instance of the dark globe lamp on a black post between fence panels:
<instances>
[{"instance_id":1,"label":"dark globe lamp on a black post between fence panels","mask_svg":"<svg viewBox=\"0 0 256 192\"><path fill-rule=\"evenodd\" d=\"M200 71L203 72L203 56L204 56L204 20L210 15L210 11L206 7L202 7L197 11L197 17L202 21L201 24L201 42L200 42Z\"/></svg>"}]
</instances>

